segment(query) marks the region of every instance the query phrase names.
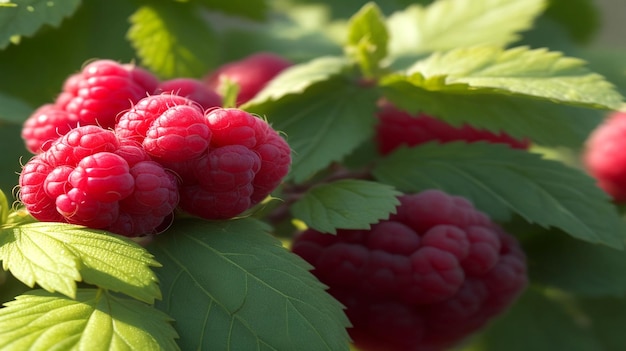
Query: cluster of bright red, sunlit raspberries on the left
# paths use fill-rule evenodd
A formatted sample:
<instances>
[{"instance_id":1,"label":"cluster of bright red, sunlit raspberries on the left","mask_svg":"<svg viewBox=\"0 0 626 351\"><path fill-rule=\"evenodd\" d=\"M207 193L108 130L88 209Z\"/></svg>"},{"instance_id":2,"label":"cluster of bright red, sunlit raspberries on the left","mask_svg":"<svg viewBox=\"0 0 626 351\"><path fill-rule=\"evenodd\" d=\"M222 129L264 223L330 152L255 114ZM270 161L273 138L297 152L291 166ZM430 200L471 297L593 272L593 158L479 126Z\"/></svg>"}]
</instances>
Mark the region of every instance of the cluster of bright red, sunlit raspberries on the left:
<instances>
[{"instance_id":1,"label":"cluster of bright red, sunlit raspberries on the left","mask_svg":"<svg viewBox=\"0 0 626 351\"><path fill-rule=\"evenodd\" d=\"M126 236L162 231L176 208L235 217L279 185L291 150L265 120L221 102L200 79L91 62L24 123L35 156L20 200L38 220Z\"/></svg>"}]
</instances>

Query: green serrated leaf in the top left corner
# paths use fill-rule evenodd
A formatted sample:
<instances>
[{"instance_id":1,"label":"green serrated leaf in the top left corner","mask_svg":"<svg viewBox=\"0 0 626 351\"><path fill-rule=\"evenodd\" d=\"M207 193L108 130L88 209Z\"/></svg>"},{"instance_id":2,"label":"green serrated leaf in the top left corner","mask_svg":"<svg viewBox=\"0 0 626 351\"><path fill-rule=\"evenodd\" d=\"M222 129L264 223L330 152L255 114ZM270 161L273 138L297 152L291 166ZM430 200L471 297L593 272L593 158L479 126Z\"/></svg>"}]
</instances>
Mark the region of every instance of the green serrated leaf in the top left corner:
<instances>
[{"instance_id":1,"label":"green serrated leaf in the top left corner","mask_svg":"<svg viewBox=\"0 0 626 351\"><path fill-rule=\"evenodd\" d=\"M60 25L80 3L80 0L20 0L17 6L0 7L0 49L16 37L35 34L44 25Z\"/></svg>"}]
</instances>

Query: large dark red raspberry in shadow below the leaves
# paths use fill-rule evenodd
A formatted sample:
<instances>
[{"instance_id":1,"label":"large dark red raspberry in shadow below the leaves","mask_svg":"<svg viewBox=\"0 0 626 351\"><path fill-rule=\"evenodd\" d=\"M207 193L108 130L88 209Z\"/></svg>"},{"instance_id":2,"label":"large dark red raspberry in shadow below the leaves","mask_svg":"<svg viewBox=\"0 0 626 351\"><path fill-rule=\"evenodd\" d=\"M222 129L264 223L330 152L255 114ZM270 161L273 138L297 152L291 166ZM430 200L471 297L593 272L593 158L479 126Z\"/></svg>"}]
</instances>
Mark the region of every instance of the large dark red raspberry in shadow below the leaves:
<instances>
[{"instance_id":1,"label":"large dark red raspberry in shadow below the leaves","mask_svg":"<svg viewBox=\"0 0 626 351\"><path fill-rule=\"evenodd\" d=\"M346 306L361 350L445 350L513 303L527 284L517 241L464 198L400 197L370 230L306 230L293 252Z\"/></svg>"}]
</instances>

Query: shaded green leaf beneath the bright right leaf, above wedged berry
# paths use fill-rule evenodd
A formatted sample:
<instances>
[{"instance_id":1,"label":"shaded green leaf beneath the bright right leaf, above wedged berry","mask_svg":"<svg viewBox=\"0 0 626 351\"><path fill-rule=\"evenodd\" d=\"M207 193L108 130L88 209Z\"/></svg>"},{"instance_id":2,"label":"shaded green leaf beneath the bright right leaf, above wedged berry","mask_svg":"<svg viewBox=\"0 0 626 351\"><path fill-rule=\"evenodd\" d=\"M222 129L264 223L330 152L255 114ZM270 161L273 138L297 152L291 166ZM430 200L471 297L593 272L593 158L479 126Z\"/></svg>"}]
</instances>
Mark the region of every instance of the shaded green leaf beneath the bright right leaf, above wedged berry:
<instances>
[{"instance_id":1,"label":"shaded green leaf beneath the bright right leaf, above wedged berry","mask_svg":"<svg viewBox=\"0 0 626 351\"><path fill-rule=\"evenodd\" d=\"M505 131L546 146L579 148L605 112L444 80L396 74L385 77L381 88L387 99L409 112L424 112L454 126Z\"/></svg>"}]
</instances>

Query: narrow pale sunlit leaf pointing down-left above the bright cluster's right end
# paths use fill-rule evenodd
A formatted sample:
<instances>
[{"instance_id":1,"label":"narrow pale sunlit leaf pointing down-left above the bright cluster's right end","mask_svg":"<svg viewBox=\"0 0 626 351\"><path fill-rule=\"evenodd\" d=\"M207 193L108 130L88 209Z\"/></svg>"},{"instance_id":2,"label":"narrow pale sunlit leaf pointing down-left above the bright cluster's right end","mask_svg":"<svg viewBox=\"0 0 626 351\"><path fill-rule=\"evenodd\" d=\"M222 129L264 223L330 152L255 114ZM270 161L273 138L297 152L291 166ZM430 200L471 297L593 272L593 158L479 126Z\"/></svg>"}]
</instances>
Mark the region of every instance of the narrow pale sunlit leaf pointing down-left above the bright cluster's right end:
<instances>
[{"instance_id":1,"label":"narrow pale sunlit leaf pointing down-left above the bright cluster's right end","mask_svg":"<svg viewBox=\"0 0 626 351\"><path fill-rule=\"evenodd\" d=\"M288 67L274 77L251 101L242 105L245 110L258 109L265 103L291 95L301 94L311 86L331 80L349 68L343 57L322 56Z\"/></svg>"}]
</instances>

